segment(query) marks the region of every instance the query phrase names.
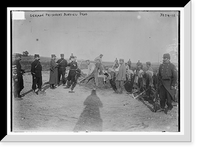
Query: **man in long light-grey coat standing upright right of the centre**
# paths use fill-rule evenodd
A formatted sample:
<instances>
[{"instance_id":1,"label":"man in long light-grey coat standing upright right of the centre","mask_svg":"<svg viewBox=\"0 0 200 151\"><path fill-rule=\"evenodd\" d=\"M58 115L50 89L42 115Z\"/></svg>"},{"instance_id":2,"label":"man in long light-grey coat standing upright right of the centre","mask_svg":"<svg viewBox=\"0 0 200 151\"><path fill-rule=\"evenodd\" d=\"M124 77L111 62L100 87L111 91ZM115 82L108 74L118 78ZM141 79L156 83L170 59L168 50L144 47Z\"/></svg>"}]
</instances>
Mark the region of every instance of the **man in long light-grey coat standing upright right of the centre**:
<instances>
[{"instance_id":1,"label":"man in long light-grey coat standing upright right of the centre","mask_svg":"<svg viewBox=\"0 0 200 151\"><path fill-rule=\"evenodd\" d=\"M123 93L124 81L126 81L126 67L124 65L124 59L120 59L119 64L119 71L116 71L116 93Z\"/></svg>"}]
</instances>

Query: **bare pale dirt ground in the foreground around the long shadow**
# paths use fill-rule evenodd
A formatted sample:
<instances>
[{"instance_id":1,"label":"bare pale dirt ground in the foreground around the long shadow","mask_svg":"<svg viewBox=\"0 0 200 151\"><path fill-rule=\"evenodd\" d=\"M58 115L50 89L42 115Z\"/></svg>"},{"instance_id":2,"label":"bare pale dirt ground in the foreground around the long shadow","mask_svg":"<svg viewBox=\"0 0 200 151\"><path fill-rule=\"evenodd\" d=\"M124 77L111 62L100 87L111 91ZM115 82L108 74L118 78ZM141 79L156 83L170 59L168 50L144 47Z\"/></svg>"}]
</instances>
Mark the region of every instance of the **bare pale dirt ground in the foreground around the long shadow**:
<instances>
[{"instance_id":1,"label":"bare pale dirt ground in the foreground around the long shadow","mask_svg":"<svg viewBox=\"0 0 200 151\"><path fill-rule=\"evenodd\" d=\"M43 83L49 72L43 72ZM31 75L24 75L22 93L31 89ZM111 88L97 89L97 96L86 98L91 89L77 85L75 93L59 86L22 100L13 99L14 132L161 132L178 131L177 106L171 112L152 112L147 105L130 95L115 94ZM85 104L85 105L84 105Z\"/></svg>"}]
</instances>

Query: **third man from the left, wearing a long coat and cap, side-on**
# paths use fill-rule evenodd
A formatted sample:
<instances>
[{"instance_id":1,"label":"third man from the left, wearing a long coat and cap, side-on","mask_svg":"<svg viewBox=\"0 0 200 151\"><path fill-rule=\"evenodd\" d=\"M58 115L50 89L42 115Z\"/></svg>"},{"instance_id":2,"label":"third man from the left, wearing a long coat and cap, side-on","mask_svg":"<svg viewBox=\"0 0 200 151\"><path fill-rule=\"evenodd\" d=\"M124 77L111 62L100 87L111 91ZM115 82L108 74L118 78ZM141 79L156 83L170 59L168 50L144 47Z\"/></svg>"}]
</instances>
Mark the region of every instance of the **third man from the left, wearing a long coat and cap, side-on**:
<instances>
[{"instance_id":1,"label":"third man from the left, wearing a long coat and cap, side-on","mask_svg":"<svg viewBox=\"0 0 200 151\"><path fill-rule=\"evenodd\" d=\"M50 61L50 77L49 77L49 84L51 89L55 89L58 84L58 64L55 62L56 55L51 55Z\"/></svg>"}]
</instances>

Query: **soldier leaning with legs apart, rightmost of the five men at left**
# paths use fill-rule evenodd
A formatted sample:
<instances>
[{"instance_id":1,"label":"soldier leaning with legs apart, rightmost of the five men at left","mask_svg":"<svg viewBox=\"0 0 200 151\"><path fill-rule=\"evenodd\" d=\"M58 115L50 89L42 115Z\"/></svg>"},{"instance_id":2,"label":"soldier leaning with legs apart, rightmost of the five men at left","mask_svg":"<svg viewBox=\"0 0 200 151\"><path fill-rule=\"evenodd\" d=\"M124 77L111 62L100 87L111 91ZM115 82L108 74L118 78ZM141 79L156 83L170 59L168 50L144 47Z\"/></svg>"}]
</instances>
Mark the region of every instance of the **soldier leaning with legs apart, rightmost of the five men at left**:
<instances>
[{"instance_id":1,"label":"soldier leaning with legs apart, rightmost of the five men at left","mask_svg":"<svg viewBox=\"0 0 200 151\"><path fill-rule=\"evenodd\" d=\"M78 77L80 76L80 70L78 69L77 62L75 62L74 56L71 56L71 62L67 65L70 66L69 74L67 77L67 86L65 89L71 87L70 93L74 93L74 88L77 84Z\"/></svg>"}]
</instances>

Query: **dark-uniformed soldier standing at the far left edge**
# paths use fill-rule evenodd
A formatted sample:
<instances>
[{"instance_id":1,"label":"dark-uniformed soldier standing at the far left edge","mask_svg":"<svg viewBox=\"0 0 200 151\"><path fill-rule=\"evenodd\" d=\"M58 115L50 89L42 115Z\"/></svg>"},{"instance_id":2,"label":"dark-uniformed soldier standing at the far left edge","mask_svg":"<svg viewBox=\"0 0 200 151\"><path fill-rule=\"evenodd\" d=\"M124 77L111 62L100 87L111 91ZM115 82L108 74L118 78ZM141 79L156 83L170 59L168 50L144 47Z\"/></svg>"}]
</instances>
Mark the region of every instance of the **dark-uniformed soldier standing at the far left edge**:
<instances>
[{"instance_id":1,"label":"dark-uniformed soldier standing at the far left edge","mask_svg":"<svg viewBox=\"0 0 200 151\"><path fill-rule=\"evenodd\" d=\"M13 80L14 80L14 97L15 98L21 98L22 96L20 95L21 90L24 88L24 83L23 83L23 73L24 70L21 69L21 55L16 54L15 56L15 61L13 63Z\"/></svg>"}]
</instances>

